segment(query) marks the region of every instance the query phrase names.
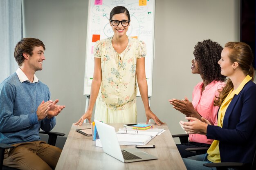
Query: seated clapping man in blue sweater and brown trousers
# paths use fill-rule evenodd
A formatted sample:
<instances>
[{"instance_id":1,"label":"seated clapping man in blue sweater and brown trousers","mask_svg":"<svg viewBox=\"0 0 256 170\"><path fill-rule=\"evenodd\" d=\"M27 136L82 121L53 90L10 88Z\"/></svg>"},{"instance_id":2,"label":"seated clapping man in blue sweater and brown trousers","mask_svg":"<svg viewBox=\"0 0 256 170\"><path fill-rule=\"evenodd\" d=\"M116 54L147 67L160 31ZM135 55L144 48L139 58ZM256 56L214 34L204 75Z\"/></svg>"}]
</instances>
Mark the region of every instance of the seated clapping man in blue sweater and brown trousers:
<instances>
[{"instance_id":1,"label":"seated clapping man in blue sweater and brown trousers","mask_svg":"<svg viewBox=\"0 0 256 170\"><path fill-rule=\"evenodd\" d=\"M45 45L35 38L17 43L14 57L19 68L0 84L0 143L15 146L5 150L5 166L20 170L52 170L61 149L40 141L40 128L49 132L65 106L50 100L49 88L35 75L42 70Z\"/></svg>"}]
</instances>

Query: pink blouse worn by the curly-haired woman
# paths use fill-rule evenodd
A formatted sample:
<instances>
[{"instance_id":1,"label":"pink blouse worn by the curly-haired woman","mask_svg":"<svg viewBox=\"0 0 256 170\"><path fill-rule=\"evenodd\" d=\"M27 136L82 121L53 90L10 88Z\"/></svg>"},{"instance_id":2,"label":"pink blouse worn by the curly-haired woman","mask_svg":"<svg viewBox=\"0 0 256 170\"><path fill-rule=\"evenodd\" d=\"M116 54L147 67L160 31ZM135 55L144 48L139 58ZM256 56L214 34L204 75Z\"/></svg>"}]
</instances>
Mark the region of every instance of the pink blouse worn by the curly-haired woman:
<instances>
[{"instance_id":1,"label":"pink blouse worn by the curly-haired woman","mask_svg":"<svg viewBox=\"0 0 256 170\"><path fill-rule=\"evenodd\" d=\"M208 84L202 92L203 82L198 83L193 90L192 104L198 113L207 119L212 125L217 125L218 106L213 106L215 96L219 96L219 89L222 89L225 84L220 81L213 81ZM206 135L190 134L190 142L198 142L204 144L211 144L212 139L207 139Z\"/></svg>"}]
</instances>

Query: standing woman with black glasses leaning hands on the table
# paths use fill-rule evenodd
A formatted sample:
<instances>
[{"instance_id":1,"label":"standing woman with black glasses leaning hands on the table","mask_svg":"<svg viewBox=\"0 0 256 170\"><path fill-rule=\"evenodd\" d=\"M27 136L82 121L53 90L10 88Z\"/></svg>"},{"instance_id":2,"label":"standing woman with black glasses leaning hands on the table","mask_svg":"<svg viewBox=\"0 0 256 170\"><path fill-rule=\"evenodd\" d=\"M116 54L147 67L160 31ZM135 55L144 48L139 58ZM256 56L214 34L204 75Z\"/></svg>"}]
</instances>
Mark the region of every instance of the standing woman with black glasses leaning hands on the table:
<instances>
[{"instance_id":1,"label":"standing woman with black glasses leaning hands on the table","mask_svg":"<svg viewBox=\"0 0 256 170\"><path fill-rule=\"evenodd\" d=\"M146 112L146 123L153 119L164 124L150 110L145 74L145 43L128 37L130 14L125 7L115 7L110 12L110 26L114 35L99 40L94 46L94 75L88 110L76 122L85 119L91 123L92 109L96 102L94 118L104 123L137 122L137 82Z\"/></svg>"}]
</instances>

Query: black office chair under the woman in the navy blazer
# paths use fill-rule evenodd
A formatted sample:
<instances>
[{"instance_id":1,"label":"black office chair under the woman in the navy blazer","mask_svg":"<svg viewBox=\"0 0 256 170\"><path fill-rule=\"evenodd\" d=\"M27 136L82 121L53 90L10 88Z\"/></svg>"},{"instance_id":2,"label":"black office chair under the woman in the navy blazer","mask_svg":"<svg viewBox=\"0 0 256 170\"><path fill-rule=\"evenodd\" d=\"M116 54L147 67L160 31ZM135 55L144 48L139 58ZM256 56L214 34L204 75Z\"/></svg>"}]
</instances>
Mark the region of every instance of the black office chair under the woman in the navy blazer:
<instances>
[{"instance_id":1,"label":"black office chair under the woman in the navy blazer","mask_svg":"<svg viewBox=\"0 0 256 170\"><path fill-rule=\"evenodd\" d=\"M221 163L204 163L207 167L216 167L217 170L227 170L228 168L237 168L239 170L256 170L256 149L254 152L254 157L252 159L252 164L239 163L239 162L221 162Z\"/></svg>"}]
</instances>

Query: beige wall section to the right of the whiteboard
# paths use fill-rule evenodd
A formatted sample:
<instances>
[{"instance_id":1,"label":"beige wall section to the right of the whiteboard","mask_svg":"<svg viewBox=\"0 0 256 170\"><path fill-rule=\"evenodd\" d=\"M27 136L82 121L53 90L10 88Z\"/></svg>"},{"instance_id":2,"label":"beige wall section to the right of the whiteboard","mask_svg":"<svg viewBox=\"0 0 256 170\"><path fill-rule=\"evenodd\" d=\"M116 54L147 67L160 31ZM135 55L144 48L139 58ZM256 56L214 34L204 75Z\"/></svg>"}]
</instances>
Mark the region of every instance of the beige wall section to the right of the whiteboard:
<instances>
[{"instance_id":1,"label":"beige wall section to the right of the whiteboard","mask_svg":"<svg viewBox=\"0 0 256 170\"><path fill-rule=\"evenodd\" d=\"M193 48L211 39L224 46L239 41L239 0L164 0L156 2L155 61L151 107L168 124L171 134L180 134L185 116L168 99L192 100L193 87L202 81L191 73ZM177 141L175 141L177 142Z\"/></svg>"}]
</instances>

